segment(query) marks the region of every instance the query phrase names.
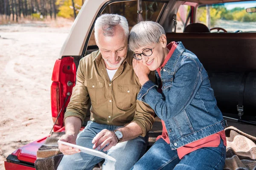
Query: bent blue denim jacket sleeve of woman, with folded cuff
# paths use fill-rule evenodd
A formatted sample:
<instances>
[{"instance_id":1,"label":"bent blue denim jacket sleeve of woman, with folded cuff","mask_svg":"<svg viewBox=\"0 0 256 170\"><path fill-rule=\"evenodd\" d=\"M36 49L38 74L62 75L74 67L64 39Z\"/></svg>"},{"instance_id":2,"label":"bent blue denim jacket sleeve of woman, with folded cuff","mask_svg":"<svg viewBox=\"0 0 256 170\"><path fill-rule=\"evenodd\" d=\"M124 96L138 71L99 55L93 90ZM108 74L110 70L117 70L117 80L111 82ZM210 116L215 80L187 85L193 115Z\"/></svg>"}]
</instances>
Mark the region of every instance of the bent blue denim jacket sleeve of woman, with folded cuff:
<instances>
[{"instance_id":1,"label":"bent blue denim jacket sleeve of woman, with folded cuff","mask_svg":"<svg viewBox=\"0 0 256 170\"><path fill-rule=\"evenodd\" d=\"M199 65L187 58L180 63L172 85L163 94L157 91L157 85L148 81L142 86L137 99L150 105L157 116L166 121L189 105L201 82Z\"/></svg>"}]
</instances>

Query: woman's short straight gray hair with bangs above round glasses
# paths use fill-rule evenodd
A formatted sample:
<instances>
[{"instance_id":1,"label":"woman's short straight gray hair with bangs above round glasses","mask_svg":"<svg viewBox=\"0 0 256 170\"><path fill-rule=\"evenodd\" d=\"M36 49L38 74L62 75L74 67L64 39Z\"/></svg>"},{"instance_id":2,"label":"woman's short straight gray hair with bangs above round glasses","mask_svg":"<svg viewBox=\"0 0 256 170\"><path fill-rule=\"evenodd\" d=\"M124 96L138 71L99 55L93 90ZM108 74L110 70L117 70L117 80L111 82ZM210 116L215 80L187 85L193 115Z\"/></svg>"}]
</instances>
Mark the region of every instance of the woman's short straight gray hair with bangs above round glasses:
<instances>
[{"instance_id":1,"label":"woman's short straight gray hair with bangs above round glasses","mask_svg":"<svg viewBox=\"0 0 256 170\"><path fill-rule=\"evenodd\" d=\"M131 28L129 48L131 51L135 51L152 43L158 43L163 34L165 34L165 31L159 23L141 21Z\"/></svg>"}]
</instances>

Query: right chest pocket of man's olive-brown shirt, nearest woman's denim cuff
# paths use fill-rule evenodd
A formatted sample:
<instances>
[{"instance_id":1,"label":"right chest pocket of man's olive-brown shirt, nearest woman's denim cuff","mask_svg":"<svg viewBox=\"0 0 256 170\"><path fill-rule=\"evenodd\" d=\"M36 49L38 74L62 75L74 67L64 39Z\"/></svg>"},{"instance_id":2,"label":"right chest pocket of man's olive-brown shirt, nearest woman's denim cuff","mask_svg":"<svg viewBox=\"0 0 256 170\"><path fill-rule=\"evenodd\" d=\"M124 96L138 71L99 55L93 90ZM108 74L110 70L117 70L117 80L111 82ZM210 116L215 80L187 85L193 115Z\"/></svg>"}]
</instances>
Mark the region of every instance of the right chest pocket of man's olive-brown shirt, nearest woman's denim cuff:
<instances>
[{"instance_id":1,"label":"right chest pocket of man's olive-brown shirt, nearest woman's denim cuff","mask_svg":"<svg viewBox=\"0 0 256 170\"><path fill-rule=\"evenodd\" d=\"M131 107L131 104L136 104L139 91L140 86L138 85L118 84L116 107L126 110Z\"/></svg>"}]
</instances>

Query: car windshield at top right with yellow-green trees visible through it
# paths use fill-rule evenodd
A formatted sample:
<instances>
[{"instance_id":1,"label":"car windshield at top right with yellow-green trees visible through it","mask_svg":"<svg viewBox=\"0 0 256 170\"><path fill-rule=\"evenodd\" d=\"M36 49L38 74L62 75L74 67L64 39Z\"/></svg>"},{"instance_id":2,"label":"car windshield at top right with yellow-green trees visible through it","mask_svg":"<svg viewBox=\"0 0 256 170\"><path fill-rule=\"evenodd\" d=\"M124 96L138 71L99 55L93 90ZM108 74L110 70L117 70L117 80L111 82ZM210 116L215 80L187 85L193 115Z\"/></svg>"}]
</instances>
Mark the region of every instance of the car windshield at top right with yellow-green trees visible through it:
<instances>
[{"instance_id":1,"label":"car windshield at top right with yellow-green trees visible through it","mask_svg":"<svg viewBox=\"0 0 256 170\"><path fill-rule=\"evenodd\" d=\"M256 7L256 1L199 6L196 11L196 22L205 24L209 29L224 28L227 32L256 31L256 13L246 11L246 8L252 7ZM212 31L216 32L217 29Z\"/></svg>"}]
</instances>

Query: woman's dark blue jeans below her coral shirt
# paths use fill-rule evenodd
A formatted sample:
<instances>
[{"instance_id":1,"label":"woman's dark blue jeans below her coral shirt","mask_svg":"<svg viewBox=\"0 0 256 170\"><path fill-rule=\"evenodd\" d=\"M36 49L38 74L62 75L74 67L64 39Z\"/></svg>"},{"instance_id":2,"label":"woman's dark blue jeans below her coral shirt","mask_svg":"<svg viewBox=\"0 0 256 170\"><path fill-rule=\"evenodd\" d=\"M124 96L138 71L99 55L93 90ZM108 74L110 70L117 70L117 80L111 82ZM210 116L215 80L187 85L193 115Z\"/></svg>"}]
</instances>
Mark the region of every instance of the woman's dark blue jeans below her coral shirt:
<instances>
[{"instance_id":1,"label":"woman's dark blue jeans below her coral shirt","mask_svg":"<svg viewBox=\"0 0 256 170\"><path fill-rule=\"evenodd\" d=\"M226 146L203 147L183 159L163 139L157 140L131 170L223 170Z\"/></svg>"}]
</instances>

